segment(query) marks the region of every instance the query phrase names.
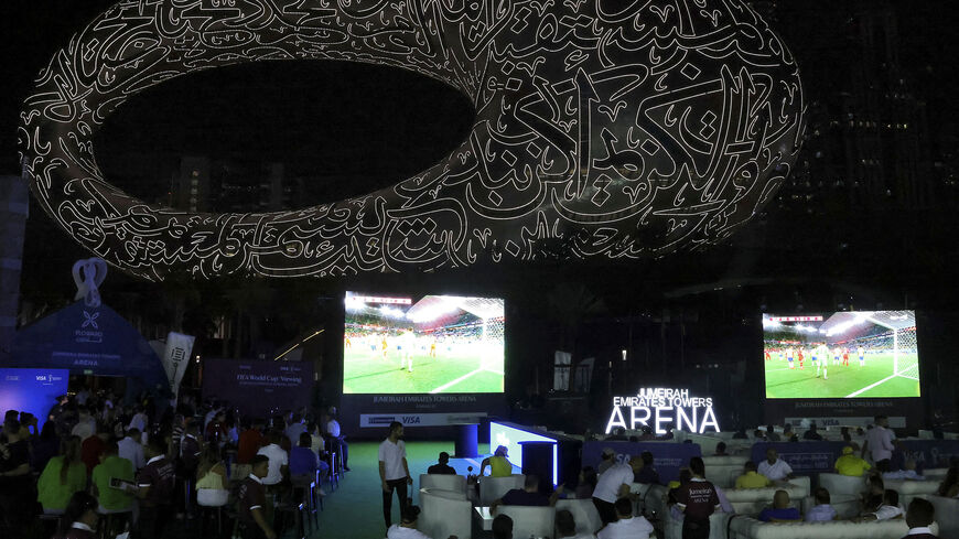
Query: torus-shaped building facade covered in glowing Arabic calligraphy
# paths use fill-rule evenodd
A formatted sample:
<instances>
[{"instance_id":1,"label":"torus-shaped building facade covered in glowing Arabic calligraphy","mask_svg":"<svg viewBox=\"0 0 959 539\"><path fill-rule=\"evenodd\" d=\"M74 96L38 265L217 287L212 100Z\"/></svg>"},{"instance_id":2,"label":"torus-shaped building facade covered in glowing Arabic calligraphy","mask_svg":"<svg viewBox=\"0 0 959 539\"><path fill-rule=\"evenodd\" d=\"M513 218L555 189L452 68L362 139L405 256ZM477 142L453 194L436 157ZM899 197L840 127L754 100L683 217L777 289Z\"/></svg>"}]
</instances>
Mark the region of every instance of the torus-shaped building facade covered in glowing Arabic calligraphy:
<instances>
[{"instance_id":1,"label":"torus-shaped building facade covered in glowing Arabic calligraphy","mask_svg":"<svg viewBox=\"0 0 959 539\"><path fill-rule=\"evenodd\" d=\"M420 174L306 208L191 214L104 177L91 137L130 96L280 60L410 69L475 123ZM783 183L804 112L743 0L123 0L42 71L19 136L46 213L130 273L336 277L714 244Z\"/></svg>"}]
</instances>

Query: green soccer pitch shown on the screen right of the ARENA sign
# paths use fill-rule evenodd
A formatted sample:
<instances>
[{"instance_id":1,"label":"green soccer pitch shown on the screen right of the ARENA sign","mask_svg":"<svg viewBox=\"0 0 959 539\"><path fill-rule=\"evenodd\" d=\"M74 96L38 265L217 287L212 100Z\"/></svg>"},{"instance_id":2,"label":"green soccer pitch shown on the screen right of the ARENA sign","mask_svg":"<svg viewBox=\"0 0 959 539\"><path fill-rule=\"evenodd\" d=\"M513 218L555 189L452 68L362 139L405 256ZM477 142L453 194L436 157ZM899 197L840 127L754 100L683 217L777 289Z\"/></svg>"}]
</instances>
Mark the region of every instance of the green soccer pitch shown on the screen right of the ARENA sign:
<instances>
[{"instance_id":1,"label":"green soccer pitch shown on the screen right of the ARENA sign","mask_svg":"<svg viewBox=\"0 0 959 539\"><path fill-rule=\"evenodd\" d=\"M901 360L902 360L901 356ZM892 354L870 354L865 366L860 367L859 357L850 355L849 366L832 365L827 362L829 379L822 374L816 376L816 367L808 359L799 369L799 362L789 368L785 359L765 362L766 398L769 399L816 399L816 398L868 398L868 397L919 397L919 382L902 376L893 376ZM915 373L915 369L914 369ZM876 386L874 384L880 382ZM868 388L865 391L858 391Z\"/></svg>"}]
</instances>

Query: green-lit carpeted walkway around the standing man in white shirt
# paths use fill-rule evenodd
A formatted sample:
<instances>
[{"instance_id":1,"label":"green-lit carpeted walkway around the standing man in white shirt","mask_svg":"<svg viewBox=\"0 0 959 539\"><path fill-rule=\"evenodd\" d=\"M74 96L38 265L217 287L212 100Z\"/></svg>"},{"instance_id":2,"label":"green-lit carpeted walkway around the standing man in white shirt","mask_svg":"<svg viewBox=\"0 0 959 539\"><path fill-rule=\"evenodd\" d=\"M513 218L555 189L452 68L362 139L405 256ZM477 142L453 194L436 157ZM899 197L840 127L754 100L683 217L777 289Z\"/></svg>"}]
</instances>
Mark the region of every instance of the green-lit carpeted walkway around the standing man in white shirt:
<instances>
[{"instance_id":1,"label":"green-lit carpeted walkway around the standing man in white shirt","mask_svg":"<svg viewBox=\"0 0 959 539\"><path fill-rule=\"evenodd\" d=\"M379 483L379 442L353 442L349 444L349 467L340 482L340 488L328 492L325 508L320 514L320 530L311 538L328 539L382 539L386 537L382 521L382 489ZM452 442L407 442L407 462L413 477L413 503L419 500L419 475L435 464L441 451L453 453ZM480 444L480 452L487 453L488 445ZM465 475L467 466L473 473L480 471L482 457L473 460L451 459L450 465ZM328 489L328 488L327 488ZM394 495L394 521L399 521L399 503Z\"/></svg>"}]
</instances>

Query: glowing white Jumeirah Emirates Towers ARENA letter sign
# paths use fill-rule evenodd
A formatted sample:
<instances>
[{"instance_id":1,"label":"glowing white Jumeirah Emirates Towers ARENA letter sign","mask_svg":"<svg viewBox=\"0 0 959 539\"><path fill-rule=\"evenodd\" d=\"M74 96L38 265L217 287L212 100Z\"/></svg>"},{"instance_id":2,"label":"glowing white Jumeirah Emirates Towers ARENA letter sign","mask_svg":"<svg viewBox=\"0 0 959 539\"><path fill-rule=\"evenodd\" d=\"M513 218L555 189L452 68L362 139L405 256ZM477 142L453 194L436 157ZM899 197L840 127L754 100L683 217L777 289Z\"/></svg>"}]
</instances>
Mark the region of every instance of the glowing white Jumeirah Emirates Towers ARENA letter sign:
<instances>
[{"instance_id":1,"label":"glowing white Jumeirah Emirates Towers ARENA letter sign","mask_svg":"<svg viewBox=\"0 0 959 539\"><path fill-rule=\"evenodd\" d=\"M644 387L635 396L613 397L606 434L616 427L629 430L650 427L657 434L665 434L666 427L696 433L720 430L712 398L690 397L689 389L661 387Z\"/></svg>"}]
</instances>

